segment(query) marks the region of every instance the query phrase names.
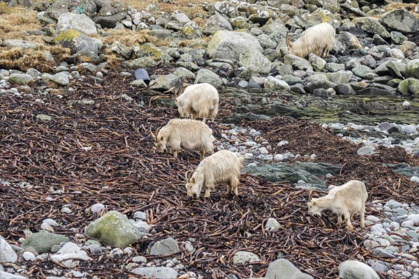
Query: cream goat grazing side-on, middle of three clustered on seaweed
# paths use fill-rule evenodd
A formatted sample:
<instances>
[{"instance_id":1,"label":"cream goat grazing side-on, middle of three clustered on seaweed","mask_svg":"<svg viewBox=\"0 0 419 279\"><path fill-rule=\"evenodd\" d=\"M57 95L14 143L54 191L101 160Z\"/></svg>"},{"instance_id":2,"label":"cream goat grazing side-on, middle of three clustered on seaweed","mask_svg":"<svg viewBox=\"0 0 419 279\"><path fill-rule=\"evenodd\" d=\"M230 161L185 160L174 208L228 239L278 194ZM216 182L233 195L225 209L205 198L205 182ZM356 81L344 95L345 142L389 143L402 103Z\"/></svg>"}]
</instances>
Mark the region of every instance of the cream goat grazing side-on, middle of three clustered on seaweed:
<instances>
[{"instance_id":1,"label":"cream goat grazing side-on, middle of three clustered on seaweed","mask_svg":"<svg viewBox=\"0 0 419 279\"><path fill-rule=\"evenodd\" d=\"M152 131L150 130L150 133ZM207 124L192 119L171 119L166 126L159 128L156 135L152 133L154 146L161 152L166 152L166 145L170 146L170 154L177 157L181 149L200 152L200 160L205 153L214 154L215 138Z\"/></svg>"}]
</instances>

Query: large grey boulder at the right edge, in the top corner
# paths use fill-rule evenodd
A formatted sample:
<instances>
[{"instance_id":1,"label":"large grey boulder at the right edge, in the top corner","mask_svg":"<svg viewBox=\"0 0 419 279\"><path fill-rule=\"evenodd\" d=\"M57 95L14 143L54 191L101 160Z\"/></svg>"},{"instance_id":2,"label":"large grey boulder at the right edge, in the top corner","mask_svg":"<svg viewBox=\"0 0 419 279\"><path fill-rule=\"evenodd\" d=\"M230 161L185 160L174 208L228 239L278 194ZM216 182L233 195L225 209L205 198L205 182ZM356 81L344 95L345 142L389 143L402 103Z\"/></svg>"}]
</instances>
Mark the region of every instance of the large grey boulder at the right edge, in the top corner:
<instances>
[{"instance_id":1,"label":"large grey boulder at the right edge, in the top corner","mask_svg":"<svg viewBox=\"0 0 419 279\"><path fill-rule=\"evenodd\" d=\"M390 10L381 15L379 22L385 27L402 33L416 33L419 31L419 20L405 8Z\"/></svg>"}]
</instances>

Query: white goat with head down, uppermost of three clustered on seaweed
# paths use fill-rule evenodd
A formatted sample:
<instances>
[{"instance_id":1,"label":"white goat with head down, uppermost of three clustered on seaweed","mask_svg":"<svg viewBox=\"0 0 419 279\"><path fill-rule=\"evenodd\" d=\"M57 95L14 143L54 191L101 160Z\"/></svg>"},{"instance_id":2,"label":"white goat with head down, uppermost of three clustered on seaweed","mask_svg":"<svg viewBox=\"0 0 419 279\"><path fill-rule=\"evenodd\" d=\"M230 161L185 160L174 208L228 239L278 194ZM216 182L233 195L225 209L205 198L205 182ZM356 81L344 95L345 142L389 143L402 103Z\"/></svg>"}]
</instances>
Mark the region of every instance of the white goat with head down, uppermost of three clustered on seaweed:
<instances>
[{"instance_id":1,"label":"white goat with head down, uppermost of three clustered on seaweed","mask_svg":"<svg viewBox=\"0 0 419 279\"><path fill-rule=\"evenodd\" d=\"M189 117L190 114L192 119L202 117L205 122L210 117L214 122L218 114L219 94L211 84L191 84L176 98L176 103L180 117Z\"/></svg>"}]
</instances>

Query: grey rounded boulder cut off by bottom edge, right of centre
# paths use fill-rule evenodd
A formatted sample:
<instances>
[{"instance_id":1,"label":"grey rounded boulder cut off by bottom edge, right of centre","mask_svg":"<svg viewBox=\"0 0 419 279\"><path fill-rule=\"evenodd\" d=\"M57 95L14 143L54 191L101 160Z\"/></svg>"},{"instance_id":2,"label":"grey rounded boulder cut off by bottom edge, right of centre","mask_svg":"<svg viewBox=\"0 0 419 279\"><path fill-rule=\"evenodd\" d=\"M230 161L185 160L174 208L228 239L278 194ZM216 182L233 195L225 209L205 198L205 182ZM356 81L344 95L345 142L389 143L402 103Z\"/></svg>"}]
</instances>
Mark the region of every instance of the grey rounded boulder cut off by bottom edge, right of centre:
<instances>
[{"instance_id":1,"label":"grey rounded boulder cut off by bottom edge, right of centre","mask_svg":"<svg viewBox=\"0 0 419 279\"><path fill-rule=\"evenodd\" d=\"M268 267L265 278L269 279L313 279L307 273L302 273L287 259L277 259Z\"/></svg>"}]
</instances>

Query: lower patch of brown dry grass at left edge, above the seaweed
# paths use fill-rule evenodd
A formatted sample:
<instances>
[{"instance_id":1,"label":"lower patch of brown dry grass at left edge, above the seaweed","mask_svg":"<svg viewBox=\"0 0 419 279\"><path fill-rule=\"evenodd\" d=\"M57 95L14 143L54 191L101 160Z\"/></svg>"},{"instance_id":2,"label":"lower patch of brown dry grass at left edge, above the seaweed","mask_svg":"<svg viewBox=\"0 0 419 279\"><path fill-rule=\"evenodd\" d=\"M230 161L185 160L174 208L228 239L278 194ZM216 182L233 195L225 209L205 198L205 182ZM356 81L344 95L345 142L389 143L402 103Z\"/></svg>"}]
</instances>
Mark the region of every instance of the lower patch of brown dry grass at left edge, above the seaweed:
<instances>
[{"instance_id":1,"label":"lower patch of brown dry grass at left edge, above the seaweed","mask_svg":"<svg viewBox=\"0 0 419 279\"><path fill-rule=\"evenodd\" d=\"M54 61L47 61L44 56L45 52L50 52L54 56ZM68 57L70 57L70 49L59 45L41 45L37 50L0 47L0 68L22 71L35 68L43 73L50 73L53 70L52 67Z\"/></svg>"}]
</instances>

